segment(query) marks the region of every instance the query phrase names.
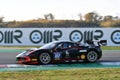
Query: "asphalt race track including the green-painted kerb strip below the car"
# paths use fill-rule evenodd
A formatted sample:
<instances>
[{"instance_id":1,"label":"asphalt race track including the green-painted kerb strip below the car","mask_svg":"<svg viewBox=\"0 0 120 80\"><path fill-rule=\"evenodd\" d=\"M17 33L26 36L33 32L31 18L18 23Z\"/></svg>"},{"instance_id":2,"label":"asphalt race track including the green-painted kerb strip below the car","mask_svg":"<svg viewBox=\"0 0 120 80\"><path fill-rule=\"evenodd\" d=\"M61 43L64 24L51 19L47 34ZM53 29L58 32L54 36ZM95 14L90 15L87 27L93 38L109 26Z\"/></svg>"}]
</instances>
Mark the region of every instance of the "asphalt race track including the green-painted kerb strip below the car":
<instances>
[{"instance_id":1,"label":"asphalt race track including the green-painted kerb strip below the car","mask_svg":"<svg viewBox=\"0 0 120 80\"><path fill-rule=\"evenodd\" d=\"M23 50L0 49L0 72L20 70L64 70L77 68L120 68L120 50L105 50L102 58L95 63L21 65L16 64L15 56Z\"/></svg>"}]
</instances>

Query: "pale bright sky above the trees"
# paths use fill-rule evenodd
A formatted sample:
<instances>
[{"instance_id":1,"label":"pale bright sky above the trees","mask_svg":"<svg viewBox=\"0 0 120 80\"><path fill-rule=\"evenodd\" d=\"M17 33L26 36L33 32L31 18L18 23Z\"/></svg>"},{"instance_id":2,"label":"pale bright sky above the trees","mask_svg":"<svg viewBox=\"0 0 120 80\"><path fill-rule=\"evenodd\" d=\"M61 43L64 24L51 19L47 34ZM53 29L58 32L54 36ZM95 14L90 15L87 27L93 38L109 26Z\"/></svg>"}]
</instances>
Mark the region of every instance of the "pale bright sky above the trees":
<instances>
[{"instance_id":1,"label":"pale bright sky above the trees","mask_svg":"<svg viewBox=\"0 0 120 80\"><path fill-rule=\"evenodd\" d=\"M0 0L4 21L37 19L48 13L56 19L79 19L79 13L92 11L120 17L120 0Z\"/></svg>"}]
</instances>

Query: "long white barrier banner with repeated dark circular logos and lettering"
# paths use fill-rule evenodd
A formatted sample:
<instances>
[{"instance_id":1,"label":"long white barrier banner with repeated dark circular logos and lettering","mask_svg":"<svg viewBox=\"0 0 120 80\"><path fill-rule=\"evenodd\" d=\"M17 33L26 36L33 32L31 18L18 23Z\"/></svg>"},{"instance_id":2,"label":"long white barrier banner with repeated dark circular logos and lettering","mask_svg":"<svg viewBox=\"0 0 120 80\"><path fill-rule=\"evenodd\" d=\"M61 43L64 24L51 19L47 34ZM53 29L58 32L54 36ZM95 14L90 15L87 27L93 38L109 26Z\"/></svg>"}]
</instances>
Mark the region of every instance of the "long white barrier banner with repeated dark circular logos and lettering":
<instances>
[{"instance_id":1,"label":"long white barrier banner with repeated dark circular logos and lettering","mask_svg":"<svg viewBox=\"0 0 120 80\"><path fill-rule=\"evenodd\" d=\"M120 28L0 28L1 46L41 46L59 40L107 40L108 46L120 46Z\"/></svg>"}]
</instances>

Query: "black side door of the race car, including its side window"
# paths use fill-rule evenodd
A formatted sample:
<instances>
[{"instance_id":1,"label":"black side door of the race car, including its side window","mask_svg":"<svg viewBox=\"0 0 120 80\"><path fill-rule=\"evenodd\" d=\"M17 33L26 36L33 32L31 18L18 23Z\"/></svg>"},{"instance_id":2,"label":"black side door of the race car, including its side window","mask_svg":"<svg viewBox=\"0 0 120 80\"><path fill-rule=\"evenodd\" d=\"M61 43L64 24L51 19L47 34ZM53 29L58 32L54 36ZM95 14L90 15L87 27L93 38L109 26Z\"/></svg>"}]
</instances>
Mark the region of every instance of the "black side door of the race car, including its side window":
<instances>
[{"instance_id":1,"label":"black side door of the race car, including its side window","mask_svg":"<svg viewBox=\"0 0 120 80\"><path fill-rule=\"evenodd\" d=\"M79 55L78 47L74 43L62 42L56 47L54 52L55 60L71 61L76 60Z\"/></svg>"}]
</instances>

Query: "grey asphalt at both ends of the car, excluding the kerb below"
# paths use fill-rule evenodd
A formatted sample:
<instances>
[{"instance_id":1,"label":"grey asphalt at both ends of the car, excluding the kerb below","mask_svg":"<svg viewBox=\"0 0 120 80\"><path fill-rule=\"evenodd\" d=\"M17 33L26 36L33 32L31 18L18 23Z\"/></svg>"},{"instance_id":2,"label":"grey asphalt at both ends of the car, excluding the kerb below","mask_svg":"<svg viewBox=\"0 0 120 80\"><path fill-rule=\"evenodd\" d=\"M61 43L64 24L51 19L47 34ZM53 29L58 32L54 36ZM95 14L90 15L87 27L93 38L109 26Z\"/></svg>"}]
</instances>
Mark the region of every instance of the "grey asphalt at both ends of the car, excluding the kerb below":
<instances>
[{"instance_id":1,"label":"grey asphalt at both ends of the car, excluding the kerb below","mask_svg":"<svg viewBox=\"0 0 120 80\"><path fill-rule=\"evenodd\" d=\"M15 56L23 50L0 50L0 64L16 64ZM104 50L98 62L120 62L120 50Z\"/></svg>"}]
</instances>

